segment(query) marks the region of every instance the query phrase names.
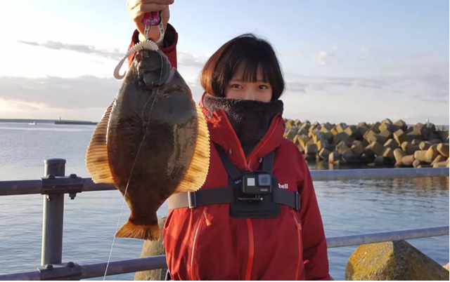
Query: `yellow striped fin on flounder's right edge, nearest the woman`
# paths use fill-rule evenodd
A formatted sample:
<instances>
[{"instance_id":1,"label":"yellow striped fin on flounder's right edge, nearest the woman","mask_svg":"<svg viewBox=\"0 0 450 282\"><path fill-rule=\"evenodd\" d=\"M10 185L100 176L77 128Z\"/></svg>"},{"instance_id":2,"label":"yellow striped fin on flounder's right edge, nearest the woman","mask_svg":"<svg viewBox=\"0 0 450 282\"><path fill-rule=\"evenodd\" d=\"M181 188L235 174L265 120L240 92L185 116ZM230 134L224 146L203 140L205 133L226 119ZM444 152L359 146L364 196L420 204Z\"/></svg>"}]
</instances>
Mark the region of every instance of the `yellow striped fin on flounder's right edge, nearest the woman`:
<instances>
[{"instance_id":1,"label":"yellow striped fin on flounder's right edge, nearest the woman","mask_svg":"<svg viewBox=\"0 0 450 282\"><path fill-rule=\"evenodd\" d=\"M194 154L189 163L186 174L181 179L174 193L197 191L206 181L210 168L210 131L202 109L195 105L197 110L198 130L195 140Z\"/></svg>"}]
</instances>

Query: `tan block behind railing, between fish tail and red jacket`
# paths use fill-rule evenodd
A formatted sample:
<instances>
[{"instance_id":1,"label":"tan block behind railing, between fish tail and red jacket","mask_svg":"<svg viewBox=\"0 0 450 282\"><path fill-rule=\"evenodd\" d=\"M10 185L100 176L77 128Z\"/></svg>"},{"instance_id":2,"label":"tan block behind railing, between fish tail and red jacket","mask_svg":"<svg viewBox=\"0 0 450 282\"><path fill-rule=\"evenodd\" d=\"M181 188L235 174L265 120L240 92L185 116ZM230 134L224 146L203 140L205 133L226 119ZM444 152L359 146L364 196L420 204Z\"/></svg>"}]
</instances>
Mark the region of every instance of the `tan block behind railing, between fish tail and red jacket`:
<instances>
[{"instance_id":1,"label":"tan block behind railing, between fish tail and red jacket","mask_svg":"<svg viewBox=\"0 0 450 282\"><path fill-rule=\"evenodd\" d=\"M158 225L160 226L161 236L158 241L143 241L143 246L141 250L141 257L151 257L153 255L165 255L164 243L162 241L162 229L164 229L164 224L167 217L158 218ZM134 274L135 281L164 281L166 276L167 268L163 269L153 269L147 271L137 271Z\"/></svg>"}]
</instances>

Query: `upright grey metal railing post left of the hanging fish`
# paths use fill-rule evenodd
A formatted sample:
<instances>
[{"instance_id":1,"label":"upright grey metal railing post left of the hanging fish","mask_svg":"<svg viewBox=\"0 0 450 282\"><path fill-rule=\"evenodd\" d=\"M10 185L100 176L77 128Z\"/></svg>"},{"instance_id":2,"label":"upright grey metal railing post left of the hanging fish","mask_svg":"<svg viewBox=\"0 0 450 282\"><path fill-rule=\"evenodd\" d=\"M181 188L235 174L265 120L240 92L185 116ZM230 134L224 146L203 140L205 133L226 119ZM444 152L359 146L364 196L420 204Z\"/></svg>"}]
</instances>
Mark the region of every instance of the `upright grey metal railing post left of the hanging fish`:
<instances>
[{"instance_id":1,"label":"upright grey metal railing post left of the hanging fish","mask_svg":"<svg viewBox=\"0 0 450 282\"><path fill-rule=\"evenodd\" d=\"M44 160L46 177L65 176L65 159ZM44 195L41 265L63 260L64 194Z\"/></svg>"}]
</instances>

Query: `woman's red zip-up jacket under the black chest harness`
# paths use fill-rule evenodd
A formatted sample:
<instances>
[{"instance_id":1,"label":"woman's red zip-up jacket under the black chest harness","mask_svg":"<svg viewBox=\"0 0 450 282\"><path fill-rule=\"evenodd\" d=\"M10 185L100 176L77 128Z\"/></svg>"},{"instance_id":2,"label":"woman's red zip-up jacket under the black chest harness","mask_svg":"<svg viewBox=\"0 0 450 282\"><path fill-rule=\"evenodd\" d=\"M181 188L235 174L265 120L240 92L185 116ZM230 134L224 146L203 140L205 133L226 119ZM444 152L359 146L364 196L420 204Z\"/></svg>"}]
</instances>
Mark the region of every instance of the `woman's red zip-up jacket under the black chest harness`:
<instances>
[{"instance_id":1,"label":"woman's red zip-up jacket under the black chest harness","mask_svg":"<svg viewBox=\"0 0 450 282\"><path fill-rule=\"evenodd\" d=\"M174 34L174 44L163 51L176 67ZM229 204L224 203L169 210L163 238L172 279L330 280L326 238L311 175L297 146L283 138L282 116L274 118L264 138L245 158L225 112L208 113L202 101L212 142L231 152L229 158L237 168L255 170L258 160L276 149L274 175L290 191L300 193L301 209L297 212L281 206L278 217L272 219L230 217ZM210 170L201 189L226 187L228 181L212 145Z\"/></svg>"}]
</instances>

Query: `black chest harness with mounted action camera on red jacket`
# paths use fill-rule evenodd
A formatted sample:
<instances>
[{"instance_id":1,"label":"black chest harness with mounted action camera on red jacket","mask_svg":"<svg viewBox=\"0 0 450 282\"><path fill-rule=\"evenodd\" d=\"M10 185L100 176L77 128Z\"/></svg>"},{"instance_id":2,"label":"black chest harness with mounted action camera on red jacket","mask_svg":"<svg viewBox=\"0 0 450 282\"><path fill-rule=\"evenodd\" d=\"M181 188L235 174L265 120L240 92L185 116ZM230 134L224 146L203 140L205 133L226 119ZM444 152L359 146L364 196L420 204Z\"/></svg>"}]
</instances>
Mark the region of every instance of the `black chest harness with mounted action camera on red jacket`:
<instances>
[{"instance_id":1,"label":"black chest harness with mounted action camera on red jacket","mask_svg":"<svg viewBox=\"0 0 450 282\"><path fill-rule=\"evenodd\" d=\"M238 170L226 156L224 149L217 144L214 145L229 175L229 186L174 194L168 199L169 210L229 203L230 215L243 218L276 217L280 205L300 210L300 194L280 189L276 177L272 175L273 151L262 158L260 170L250 173Z\"/></svg>"}]
</instances>

